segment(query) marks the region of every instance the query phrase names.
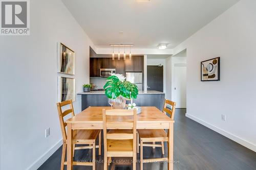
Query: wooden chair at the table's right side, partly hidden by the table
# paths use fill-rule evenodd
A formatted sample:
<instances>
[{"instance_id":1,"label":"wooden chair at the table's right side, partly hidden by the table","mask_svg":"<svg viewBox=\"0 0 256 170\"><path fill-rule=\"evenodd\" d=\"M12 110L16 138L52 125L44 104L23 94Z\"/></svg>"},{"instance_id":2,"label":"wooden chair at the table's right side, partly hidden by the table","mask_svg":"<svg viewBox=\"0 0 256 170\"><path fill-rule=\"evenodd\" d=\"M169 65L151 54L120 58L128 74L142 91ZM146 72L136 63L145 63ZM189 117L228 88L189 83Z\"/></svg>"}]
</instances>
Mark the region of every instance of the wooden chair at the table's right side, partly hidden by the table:
<instances>
[{"instance_id":1,"label":"wooden chair at the table's right side, partly hidden by the table","mask_svg":"<svg viewBox=\"0 0 256 170\"><path fill-rule=\"evenodd\" d=\"M170 109L167 108L167 105L170 106ZM176 103L165 100L163 107L163 114L168 113L170 118L174 119ZM139 144L140 138L140 144ZM167 133L163 129L141 129L137 133L137 152L139 153L140 145L140 169L143 170L143 163L146 162L157 162L157 161L167 161L167 158L155 158L155 159L144 159L143 160L143 147L161 147L162 153L164 155L164 142L168 141ZM153 142L153 144L144 143L144 142ZM161 144L156 144L156 142L161 142Z\"/></svg>"}]
</instances>

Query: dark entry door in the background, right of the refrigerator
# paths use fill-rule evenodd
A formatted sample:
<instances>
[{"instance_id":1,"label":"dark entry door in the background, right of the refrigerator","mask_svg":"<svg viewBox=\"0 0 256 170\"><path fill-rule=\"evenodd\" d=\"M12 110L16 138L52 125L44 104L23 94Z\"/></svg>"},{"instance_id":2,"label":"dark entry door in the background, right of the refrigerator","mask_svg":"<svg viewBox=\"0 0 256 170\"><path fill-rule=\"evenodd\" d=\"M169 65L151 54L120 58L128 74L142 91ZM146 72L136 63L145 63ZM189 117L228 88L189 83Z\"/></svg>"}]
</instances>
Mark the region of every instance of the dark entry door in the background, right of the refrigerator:
<instances>
[{"instance_id":1,"label":"dark entry door in the background, right of the refrigerator","mask_svg":"<svg viewBox=\"0 0 256 170\"><path fill-rule=\"evenodd\" d=\"M147 90L163 92L163 66L147 66Z\"/></svg>"}]
</instances>

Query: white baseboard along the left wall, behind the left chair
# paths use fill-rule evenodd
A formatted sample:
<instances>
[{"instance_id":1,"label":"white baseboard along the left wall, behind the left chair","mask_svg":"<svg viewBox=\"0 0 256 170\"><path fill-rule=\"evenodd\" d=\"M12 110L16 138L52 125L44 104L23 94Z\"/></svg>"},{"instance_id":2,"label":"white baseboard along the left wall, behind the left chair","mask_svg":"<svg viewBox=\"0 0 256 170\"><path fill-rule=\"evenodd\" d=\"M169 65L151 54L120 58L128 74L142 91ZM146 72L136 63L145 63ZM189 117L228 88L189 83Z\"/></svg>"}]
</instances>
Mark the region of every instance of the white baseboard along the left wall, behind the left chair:
<instances>
[{"instance_id":1,"label":"white baseboard along the left wall, behind the left chair","mask_svg":"<svg viewBox=\"0 0 256 170\"><path fill-rule=\"evenodd\" d=\"M60 139L56 144L53 145L47 152L40 156L36 161L34 161L26 170L36 170L38 169L54 152L59 149L62 145L62 139Z\"/></svg>"}]
</instances>

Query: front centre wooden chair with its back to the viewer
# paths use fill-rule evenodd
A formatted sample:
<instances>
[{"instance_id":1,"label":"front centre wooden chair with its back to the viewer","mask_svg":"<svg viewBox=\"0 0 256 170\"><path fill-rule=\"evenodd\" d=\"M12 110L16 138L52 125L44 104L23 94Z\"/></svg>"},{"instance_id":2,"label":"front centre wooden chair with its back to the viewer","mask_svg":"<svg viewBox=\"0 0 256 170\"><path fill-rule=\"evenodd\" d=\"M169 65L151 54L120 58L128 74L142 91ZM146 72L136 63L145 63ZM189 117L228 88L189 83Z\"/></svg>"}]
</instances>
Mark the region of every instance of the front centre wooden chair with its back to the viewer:
<instances>
[{"instance_id":1,"label":"front centre wooden chair with its back to the viewer","mask_svg":"<svg viewBox=\"0 0 256 170\"><path fill-rule=\"evenodd\" d=\"M104 170L108 168L107 163L111 160L111 157L133 157L133 169L135 170L137 159L137 110L103 109L102 115L104 135ZM119 116L118 121L114 118L117 118L117 116ZM133 119L131 119L131 116ZM110 131L107 132L107 130Z\"/></svg>"}]
</instances>

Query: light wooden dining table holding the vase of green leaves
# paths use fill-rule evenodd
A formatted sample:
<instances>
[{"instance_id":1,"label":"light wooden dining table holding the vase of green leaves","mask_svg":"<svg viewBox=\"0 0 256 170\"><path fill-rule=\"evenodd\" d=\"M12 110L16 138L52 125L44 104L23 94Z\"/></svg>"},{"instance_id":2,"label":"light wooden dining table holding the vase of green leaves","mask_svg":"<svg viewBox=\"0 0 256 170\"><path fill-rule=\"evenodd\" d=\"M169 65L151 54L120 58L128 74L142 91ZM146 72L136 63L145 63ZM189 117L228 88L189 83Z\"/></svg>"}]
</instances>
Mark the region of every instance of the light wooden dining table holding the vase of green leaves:
<instances>
[{"instance_id":1,"label":"light wooden dining table holding the vase of green leaves","mask_svg":"<svg viewBox=\"0 0 256 170\"><path fill-rule=\"evenodd\" d=\"M88 107L74 117L66 120L67 129L67 169L72 170L73 164L73 130L103 129L102 109L111 107ZM173 170L174 160L174 120L156 107L141 107L137 115L137 129L168 130L168 169ZM116 121L121 121L116 117ZM79 165L79 164L77 164Z\"/></svg>"}]
</instances>

